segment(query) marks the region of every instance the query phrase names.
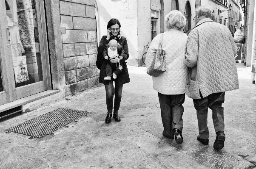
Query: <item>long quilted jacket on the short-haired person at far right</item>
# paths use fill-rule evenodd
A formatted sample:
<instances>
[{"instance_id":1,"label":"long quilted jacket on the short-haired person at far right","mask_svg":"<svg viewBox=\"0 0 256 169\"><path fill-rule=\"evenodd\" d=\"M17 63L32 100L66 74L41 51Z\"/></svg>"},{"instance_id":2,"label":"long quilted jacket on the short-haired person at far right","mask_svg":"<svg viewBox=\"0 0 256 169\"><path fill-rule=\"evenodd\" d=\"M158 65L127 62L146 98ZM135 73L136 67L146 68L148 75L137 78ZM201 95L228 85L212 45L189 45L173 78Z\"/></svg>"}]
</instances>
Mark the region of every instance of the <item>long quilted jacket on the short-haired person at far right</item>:
<instances>
[{"instance_id":1,"label":"long quilted jacket on the short-haired person at far right","mask_svg":"<svg viewBox=\"0 0 256 169\"><path fill-rule=\"evenodd\" d=\"M202 19L188 33L186 65L196 82L194 94L200 98L212 93L239 89L236 61L237 48L225 25L209 18ZM187 92L187 91L186 91Z\"/></svg>"}]
</instances>

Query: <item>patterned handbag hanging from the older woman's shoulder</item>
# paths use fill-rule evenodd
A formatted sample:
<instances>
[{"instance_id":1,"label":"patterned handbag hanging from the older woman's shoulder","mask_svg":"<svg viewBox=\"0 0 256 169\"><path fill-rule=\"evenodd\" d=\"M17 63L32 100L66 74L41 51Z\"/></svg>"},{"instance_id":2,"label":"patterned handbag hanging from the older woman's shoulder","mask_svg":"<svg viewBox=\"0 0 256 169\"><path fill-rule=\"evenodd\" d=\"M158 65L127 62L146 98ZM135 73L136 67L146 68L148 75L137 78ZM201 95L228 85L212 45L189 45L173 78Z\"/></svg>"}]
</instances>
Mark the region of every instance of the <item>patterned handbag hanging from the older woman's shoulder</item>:
<instances>
[{"instance_id":1,"label":"patterned handbag hanging from the older woman's shoulder","mask_svg":"<svg viewBox=\"0 0 256 169\"><path fill-rule=\"evenodd\" d=\"M158 50L154 56L151 66L147 73L153 77L157 77L166 71L165 66L165 50L162 50L163 34L161 33L161 40L159 42Z\"/></svg>"}]
</instances>

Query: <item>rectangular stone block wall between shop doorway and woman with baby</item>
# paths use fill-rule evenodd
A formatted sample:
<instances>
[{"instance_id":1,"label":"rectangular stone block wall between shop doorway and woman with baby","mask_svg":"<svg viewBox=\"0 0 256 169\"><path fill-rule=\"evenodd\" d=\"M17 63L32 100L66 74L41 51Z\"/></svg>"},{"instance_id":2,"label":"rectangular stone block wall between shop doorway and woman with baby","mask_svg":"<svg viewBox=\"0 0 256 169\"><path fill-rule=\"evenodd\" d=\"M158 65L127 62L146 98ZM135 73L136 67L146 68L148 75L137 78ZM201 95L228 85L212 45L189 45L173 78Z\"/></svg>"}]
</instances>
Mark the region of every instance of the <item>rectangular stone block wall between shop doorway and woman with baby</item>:
<instances>
[{"instance_id":1,"label":"rectangular stone block wall between shop doorway and woman with baby","mask_svg":"<svg viewBox=\"0 0 256 169\"><path fill-rule=\"evenodd\" d=\"M94 0L60 0L65 84L71 94L98 84Z\"/></svg>"}]
</instances>

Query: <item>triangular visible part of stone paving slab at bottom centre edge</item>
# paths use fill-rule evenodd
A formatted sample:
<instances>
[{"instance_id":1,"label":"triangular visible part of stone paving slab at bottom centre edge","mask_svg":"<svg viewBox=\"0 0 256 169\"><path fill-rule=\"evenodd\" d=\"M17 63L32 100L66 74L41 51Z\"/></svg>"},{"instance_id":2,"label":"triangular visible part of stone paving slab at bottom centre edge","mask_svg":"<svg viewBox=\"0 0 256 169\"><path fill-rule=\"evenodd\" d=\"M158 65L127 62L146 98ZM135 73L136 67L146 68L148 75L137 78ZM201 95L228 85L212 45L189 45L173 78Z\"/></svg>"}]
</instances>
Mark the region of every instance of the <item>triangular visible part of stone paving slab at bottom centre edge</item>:
<instances>
[{"instance_id":1,"label":"triangular visible part of stone paving slab at bottom centre edge","mask_svg":"<svg viewBox=\"0 0 256 169\"><path fill-rule=\"evenodd\" d=\"M137 148L120 150L108 155L100 155L86 158L77 163L60 164L53 169L76 168L76 169L168 169L156 158Z\"/></svg>"}]
</instances>

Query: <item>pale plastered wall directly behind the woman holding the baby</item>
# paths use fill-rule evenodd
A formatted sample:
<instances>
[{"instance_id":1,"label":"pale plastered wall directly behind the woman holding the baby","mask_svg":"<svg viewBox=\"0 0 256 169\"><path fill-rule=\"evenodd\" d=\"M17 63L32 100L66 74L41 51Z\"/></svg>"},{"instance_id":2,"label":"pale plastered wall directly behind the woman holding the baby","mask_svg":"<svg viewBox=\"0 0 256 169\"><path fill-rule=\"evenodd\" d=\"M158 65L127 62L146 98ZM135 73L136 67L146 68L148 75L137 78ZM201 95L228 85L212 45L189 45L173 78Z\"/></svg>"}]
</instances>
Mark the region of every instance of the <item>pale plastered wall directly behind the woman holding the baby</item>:
<instances>
[{"instance_id":1,"label":"pale plastered wall directly behind the woman holding the baby","mask_svg":"<svg viewBox=\"0 0 256 169\"><path fill-rule=\"evenodd\" d=\"M144 0L143 0L144 1ZM117 18L121 36L128 42L128 65L138 66L137 0L96 0L98 8L99 37L106 35L108 21Z\"/></svg>"}]
</instances>

